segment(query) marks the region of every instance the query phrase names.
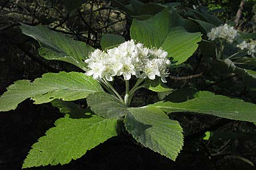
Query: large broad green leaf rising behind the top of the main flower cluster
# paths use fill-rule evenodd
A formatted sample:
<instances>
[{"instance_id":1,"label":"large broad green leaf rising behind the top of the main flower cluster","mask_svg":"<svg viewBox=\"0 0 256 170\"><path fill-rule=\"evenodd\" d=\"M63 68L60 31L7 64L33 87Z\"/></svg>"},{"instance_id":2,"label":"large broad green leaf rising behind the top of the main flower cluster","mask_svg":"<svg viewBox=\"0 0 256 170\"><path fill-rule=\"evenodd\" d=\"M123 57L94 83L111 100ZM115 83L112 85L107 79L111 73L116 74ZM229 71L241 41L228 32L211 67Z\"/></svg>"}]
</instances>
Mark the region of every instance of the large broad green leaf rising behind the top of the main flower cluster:
<instances>
[{"instance_id":1,"label":"large broad green leaf rising behind the top of the main flower cluster","mask_svg":"<svg viewBox=\"0 0 256 170\"><path fill-rule=\"evenodd\" d=\"M172 12L174 14L174 12ZM169 10L147 20L133 20L131 39L143 42L145 46L162 47L174 58L176 65L185 62L197 49L201 33L189 33L178 25L183 25Z\"/></svg>"}]
</instances>

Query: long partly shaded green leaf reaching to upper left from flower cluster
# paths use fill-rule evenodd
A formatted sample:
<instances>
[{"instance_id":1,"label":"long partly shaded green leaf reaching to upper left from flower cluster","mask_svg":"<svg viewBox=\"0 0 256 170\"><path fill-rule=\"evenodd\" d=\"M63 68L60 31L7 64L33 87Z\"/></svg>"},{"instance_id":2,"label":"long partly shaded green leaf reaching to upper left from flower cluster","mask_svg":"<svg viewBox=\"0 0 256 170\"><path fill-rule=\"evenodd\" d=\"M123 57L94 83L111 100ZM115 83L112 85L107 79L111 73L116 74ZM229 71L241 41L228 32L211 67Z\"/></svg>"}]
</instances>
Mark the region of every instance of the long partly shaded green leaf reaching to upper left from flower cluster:
<instances>
[{"instance_id":1,"label":"long partly shaded green leaf reaching to upper left from flower cluster","mask_svg":"<svg viewBox=\"0 0 256 170\"><path fill-rule=\"evenodd\" d=\"M32 27L22 24L20 28L25 35L38 40L42 47L39 49L42 57L69 62L82 70L86 70L86 63L83 60L88 58L89 52L94 50L92 46L73 40L63 33L51 31L44 25Z\"/></svg>"}]
</instances>

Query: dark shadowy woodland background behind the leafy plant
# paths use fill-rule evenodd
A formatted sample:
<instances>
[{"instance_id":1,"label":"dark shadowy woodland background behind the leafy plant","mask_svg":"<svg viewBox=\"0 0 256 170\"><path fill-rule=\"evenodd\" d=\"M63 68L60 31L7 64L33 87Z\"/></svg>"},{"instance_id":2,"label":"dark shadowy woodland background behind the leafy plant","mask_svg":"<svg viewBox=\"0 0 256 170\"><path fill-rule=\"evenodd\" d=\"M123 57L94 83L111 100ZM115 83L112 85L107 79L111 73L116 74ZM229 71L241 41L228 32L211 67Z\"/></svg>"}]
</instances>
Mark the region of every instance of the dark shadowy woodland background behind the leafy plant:
<instances>
[{"instance_id":1,"label":"dark shadowy woodland background behind the leafy plant","mask_svg":"<svg viewBox=\"0 0 256 170\"><path fill-rule=\"evenodd\" d=\"M241 1L142 1L167 3L182 2L183 6L208 6L210 10L222 8L216 14L224 22L238 19L237 29L255 32L256 1L247 1L242 13L237 15ZM71 3L75 4L75 3ZM22 35L19 23L48 25L54 31L63 32L76 40L100 48L100 39L105 33L114 33L129 39L130 20L122 12L110 7L111 2L87 1L78 10L72 10L68 1L0 1L0 94L15 80L40 77L47 72L81 71L64 62L47 61L38 54L38 42ZM188 61L191 67L199 65L198 58ZM197 66L195 66L197 65ZM199 66L198 66L199 67ZM207 69L200 62L199 69ZM184 69L183 69L184 70ZM177 76L189 75L189 70L177 69ZM207 75L216 83L205 86L205 77L184 81L172 81L172 87L194 86L216 94L239 97L255 103L237 76ZM213 76L214 75L214 76ZM200 85L203 84L203 85ZM116 85L116 84L115 84ZM156 100L153 92L142 90L135 96L143 105ZM77 101L82 103L84 101ZM0 113L0 169L21 169L30 147L57 118L63 117L51 104L34 105L31 100L19 104L15 111ZM127 134L109 139L88 151L82 158L67 165L31 169L255 169L256 128L248 122L229 121L210 116L175 113L184 129L185 143L176 162L148 148L143 148ZM203 140L206 131L226 131L216 139ZM243 134L235 135L235 134Z\"/></svg>"}]
</instances>

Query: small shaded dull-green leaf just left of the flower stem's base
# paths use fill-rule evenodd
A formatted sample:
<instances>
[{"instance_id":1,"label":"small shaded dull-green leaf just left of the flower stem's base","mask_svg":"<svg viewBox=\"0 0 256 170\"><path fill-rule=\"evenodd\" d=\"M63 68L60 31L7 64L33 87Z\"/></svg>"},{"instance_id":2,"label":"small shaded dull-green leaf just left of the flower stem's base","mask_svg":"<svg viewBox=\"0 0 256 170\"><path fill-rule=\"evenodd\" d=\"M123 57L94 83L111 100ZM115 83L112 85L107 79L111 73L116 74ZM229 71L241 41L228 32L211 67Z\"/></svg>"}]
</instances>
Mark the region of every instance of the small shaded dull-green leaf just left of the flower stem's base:
<instances>
[{"instance_id":1,"label":"small shaded dull-green leaf just left of the flower stem's base","mask_svg":"<svg viewBox=\"0 0 256 170\"><path fill-rule=\"evenodd\" d=\"M95 114L107 118L121 117L128 112L125 105L106 92L90 94L87 97L87 104Z\"/></svg>"}]
</instances>

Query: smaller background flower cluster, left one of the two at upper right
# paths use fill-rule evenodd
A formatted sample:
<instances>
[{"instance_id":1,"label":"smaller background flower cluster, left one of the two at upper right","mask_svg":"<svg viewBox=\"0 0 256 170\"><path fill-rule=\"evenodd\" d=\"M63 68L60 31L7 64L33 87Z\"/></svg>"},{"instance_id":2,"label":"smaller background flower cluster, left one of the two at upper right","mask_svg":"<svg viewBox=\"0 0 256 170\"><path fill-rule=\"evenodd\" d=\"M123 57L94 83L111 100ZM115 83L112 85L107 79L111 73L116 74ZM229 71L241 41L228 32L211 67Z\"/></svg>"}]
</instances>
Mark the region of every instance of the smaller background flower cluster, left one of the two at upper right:
<instances>
[{"instance_id":1,"label":"smaller background flower cluster, left one of the two at upper right","mask_svg":"<svg viewBox=\"0 0 256 170\"><path fill-rule=\"evenodd\" d=\"M207 33L208 40L215 40L216 38L222 38L230 43L238 36L237 30L234 27L230 27L228 24L215 27Z\"/></svg>"}]
</instances>

